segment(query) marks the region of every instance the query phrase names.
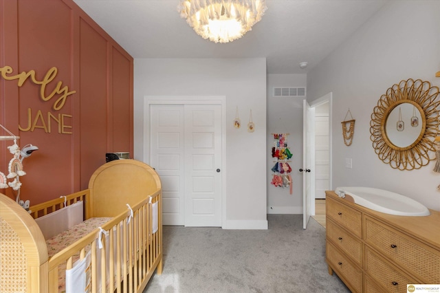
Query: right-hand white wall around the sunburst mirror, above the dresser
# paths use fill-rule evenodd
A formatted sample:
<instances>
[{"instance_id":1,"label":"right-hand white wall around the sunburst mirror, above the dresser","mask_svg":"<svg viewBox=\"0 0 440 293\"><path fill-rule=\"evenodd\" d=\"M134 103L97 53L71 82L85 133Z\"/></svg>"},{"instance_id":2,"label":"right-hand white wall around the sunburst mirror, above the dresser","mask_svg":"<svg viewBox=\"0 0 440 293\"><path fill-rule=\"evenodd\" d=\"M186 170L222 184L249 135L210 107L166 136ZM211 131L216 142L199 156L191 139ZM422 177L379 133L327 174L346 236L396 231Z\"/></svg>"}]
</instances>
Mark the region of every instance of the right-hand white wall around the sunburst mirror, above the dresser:
<instances>
[{"instance_id":1,"label":"right-hand white wall around the sunburst mirror, above the dresser","mask_svg":"<svg viewBox=\"0 0 440 293\"><path fill-rule=\"evenodd\" d=\"M309 101L333 92L333 187L372 186L412 197L440 210L435 161L419 170L384 164L370 140L373 108L386 90L408 78L440 86L440 1L391 1L307 75ZM340 122L350 109L353 144L345 146ZM353 159L346 169L345 158Z\"/></svg>"}]
</instances>

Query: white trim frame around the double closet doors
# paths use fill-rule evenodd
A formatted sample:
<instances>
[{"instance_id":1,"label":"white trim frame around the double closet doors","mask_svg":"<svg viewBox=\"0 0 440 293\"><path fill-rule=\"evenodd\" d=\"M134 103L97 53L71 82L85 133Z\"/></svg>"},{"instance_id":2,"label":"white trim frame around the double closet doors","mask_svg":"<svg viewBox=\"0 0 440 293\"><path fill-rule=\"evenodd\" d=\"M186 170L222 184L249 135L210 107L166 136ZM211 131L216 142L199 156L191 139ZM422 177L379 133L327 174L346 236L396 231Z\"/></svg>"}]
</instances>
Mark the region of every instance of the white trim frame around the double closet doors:
<instances>
[{"instance_id":1,"label":"white trim frame around the double closet doors","mask_svg":"<svg viewBox=\"0 0 440 293\"><path fill-rule=\"evenodd\" d=\"M144 96L144 162L150 164L151 105L221 105L221 228L226 224L226 96Z\"/></svg>"}]
</instances>

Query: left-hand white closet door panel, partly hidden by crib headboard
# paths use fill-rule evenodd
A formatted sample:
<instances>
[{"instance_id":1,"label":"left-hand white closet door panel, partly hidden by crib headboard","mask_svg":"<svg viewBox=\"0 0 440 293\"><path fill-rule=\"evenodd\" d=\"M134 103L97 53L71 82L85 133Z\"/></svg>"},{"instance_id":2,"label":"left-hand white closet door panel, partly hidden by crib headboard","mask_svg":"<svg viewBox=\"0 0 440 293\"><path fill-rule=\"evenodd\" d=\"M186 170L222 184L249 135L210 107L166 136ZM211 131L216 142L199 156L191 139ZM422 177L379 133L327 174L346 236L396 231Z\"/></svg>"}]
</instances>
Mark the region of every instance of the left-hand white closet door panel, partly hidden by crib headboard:
<instances>
[{"instance_id":1,"label":"left-hand white closet door panel, partly hidden by crib headboard","mask_svg":"<svg viewBox=\"0 0 440 293\"><path fill-rule=\"evenodd\" d=\"M162 181L164 225L184 225L184 105L151 105L150 164Z\"/></svg>"}]
</instances>

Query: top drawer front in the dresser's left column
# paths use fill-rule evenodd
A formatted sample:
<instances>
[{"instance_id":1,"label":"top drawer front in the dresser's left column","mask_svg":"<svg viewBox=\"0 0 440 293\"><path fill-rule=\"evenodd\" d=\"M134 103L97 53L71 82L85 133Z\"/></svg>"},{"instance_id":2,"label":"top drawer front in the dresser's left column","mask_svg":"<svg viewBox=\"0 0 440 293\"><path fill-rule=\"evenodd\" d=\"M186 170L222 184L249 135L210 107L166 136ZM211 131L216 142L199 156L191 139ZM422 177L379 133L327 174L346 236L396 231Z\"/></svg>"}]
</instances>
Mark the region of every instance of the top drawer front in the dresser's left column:
<instances>
[{"instance_id":1,"label":"top drawer front in the dresser's left column","mask_svg":"<svg viewBox=\"0 0 440 293\"><path fill-rule=\"evenodd\" d=\"M326 215L354 235L362 238L362 213L331 197L326 199Z\"/></svg>"}]
</instances>

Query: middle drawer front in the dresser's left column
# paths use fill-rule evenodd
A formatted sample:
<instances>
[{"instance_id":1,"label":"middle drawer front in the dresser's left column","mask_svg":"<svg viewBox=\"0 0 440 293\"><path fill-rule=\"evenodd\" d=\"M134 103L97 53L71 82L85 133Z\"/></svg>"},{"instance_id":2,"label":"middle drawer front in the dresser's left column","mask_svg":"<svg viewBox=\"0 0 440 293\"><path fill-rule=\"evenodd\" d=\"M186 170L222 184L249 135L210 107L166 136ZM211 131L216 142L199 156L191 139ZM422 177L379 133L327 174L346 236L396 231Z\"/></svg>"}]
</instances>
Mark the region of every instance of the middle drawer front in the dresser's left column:
<instances>
[{"instance_id":1,"label":"middle drawer front in the dresser's left column","mask_svg":"<svg viewBox=\"0 0 440 293\"><path fill-rule=\"evenodd\" d=\"M360 239L353 237L330 219L327 221L327 239L331 239L335 246L347 253L358 265L362 266L362 242Z\"/></svg>"}]
</instances>

